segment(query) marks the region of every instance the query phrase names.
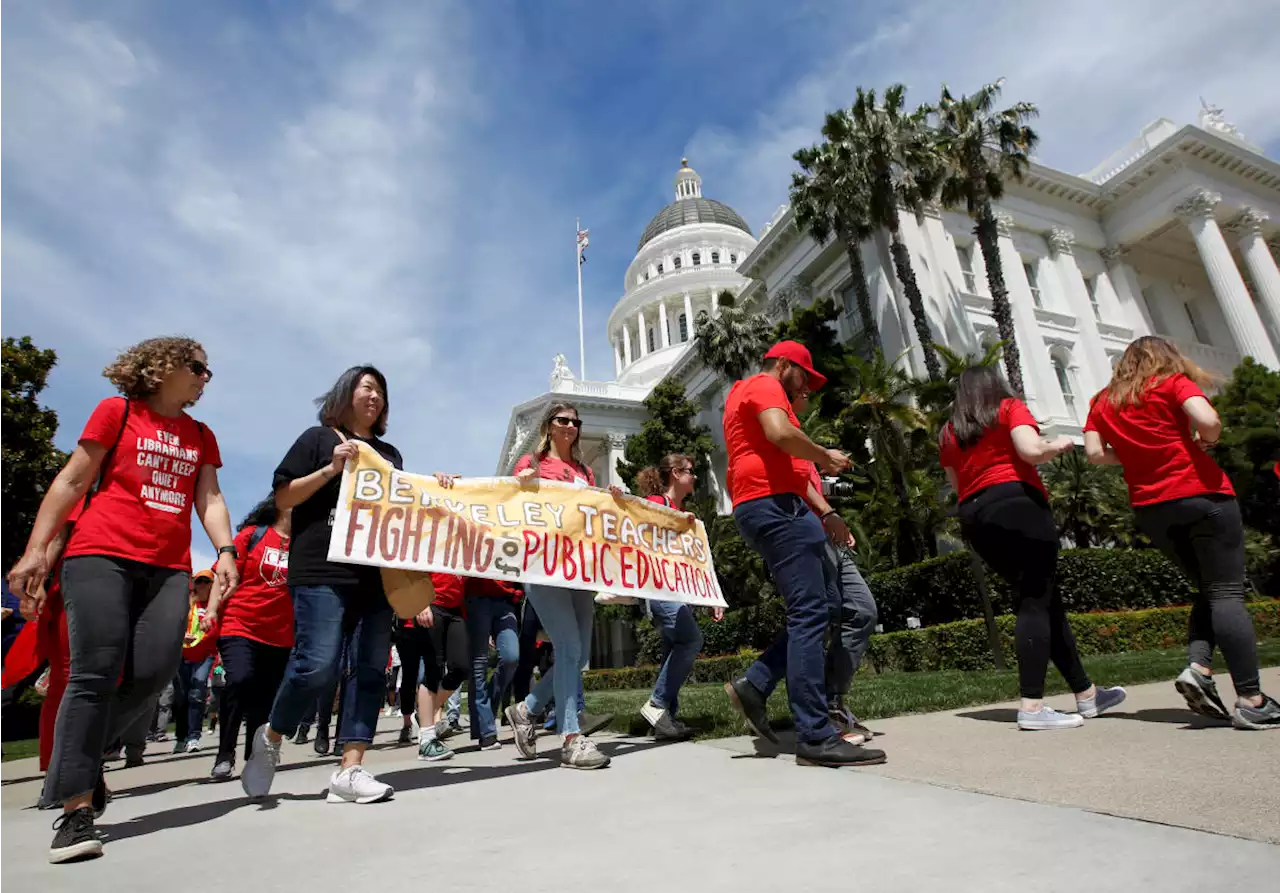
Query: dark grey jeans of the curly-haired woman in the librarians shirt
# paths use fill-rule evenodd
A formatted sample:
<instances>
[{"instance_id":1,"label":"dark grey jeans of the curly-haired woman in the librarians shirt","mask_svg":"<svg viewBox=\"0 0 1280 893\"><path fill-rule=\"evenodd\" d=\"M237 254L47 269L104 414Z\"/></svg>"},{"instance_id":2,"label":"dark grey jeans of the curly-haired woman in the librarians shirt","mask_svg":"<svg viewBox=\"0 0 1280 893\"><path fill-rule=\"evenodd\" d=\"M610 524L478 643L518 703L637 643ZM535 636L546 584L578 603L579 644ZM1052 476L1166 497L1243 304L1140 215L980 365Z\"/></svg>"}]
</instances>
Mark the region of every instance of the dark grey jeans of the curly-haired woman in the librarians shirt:
<instances>
[{"instance_id":1,"label":"dark grey jeans of the curly-haired woman in the librarians shirt","mask_svg":"<svg viewBox=\"0 0 1280 893\"><path fill-rule=\"evenodd\" d=\"M58 707L45 802L92 791L108 742L155 709L182 660L188 580L186 571L123 558L63 562L72 672Z\"/></svg>"}]
</instances>

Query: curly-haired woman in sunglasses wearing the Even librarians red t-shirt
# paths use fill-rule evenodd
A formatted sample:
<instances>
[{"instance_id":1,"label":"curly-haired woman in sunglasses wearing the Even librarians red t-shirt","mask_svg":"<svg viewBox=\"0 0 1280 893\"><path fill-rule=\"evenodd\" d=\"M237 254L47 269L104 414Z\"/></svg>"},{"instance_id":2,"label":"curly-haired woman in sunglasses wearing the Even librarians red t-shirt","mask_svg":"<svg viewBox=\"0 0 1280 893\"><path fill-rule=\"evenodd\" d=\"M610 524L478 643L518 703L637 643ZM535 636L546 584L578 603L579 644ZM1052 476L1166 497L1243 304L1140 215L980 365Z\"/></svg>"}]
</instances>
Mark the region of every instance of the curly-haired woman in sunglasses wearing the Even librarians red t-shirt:
<instances>
[{"instance_id":1,"label":"curly-haired woman in sunglasses wearing the Even librarians red t-shirt","mask_svg":"<svg viewBox=\"0 0 1280 893\"><path fill-rule=\"evenodd\" d=\"M51 862L102 852L93 833L106 807L102 751L178 668L192 509L218 550L223 590L233 591L239 580L218 485L218 441L186 412L212 377L205 349L189 338L152 338L102 375L122 398L93 409L9 572L14 591L37 591L49 572L50 541L84 499L61 564L70 678L45 779L45 800L63 805Z\"/></svg>"}]
</instances>

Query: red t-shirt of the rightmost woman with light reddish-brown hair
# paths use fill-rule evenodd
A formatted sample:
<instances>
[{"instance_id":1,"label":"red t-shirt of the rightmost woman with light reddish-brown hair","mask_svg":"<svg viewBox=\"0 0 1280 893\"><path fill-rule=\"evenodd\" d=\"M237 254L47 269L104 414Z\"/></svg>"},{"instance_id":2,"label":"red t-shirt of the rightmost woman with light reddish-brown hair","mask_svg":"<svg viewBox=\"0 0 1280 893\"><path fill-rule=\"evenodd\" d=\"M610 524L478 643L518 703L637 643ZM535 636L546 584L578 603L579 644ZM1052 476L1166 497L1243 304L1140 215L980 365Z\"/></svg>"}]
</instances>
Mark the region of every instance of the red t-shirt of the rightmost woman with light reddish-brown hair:
<instances>
[{"instance_id":1,"label":"red t-shirt of the rightmost woman with light reddish-brown hair","mask_svg":"<svg viewBox=\"0 0 1280 893\"><path fill-rule=\"evenodd\" d=\"M1148 385L1140 403L1117 408L1106 391L1093 398L1085 431L1097 431L1115 450L1133 505L1165 503L1206 493L1235 495L1231 481L1192 439L1183 403L1204 391L1183 374Z\"/></svg>"}]
</instances>

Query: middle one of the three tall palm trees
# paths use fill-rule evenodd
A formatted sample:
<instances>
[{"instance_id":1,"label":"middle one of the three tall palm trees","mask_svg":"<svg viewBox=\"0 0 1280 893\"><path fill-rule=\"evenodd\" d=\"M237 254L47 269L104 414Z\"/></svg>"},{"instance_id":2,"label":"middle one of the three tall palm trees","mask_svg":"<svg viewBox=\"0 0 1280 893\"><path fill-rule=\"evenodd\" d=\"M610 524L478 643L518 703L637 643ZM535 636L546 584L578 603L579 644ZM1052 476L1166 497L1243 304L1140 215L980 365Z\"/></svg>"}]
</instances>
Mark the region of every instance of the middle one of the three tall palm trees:
<instances>
[{"instance_id":1,"label":"middle one of the three tall palm trees","mask_svg":"<svg viewBox=\"0 0 1280 893\"><path fill-rule=\"evenodd\" d=\"M884 91L883 105L877 105L876 91L859 87L854 106L847 113L827 116L823 136L838 147L840 157L863 169L869 221L888 230L893 270L911 308L915 335L924 352L924 367L929 377L937 380L942 367L933 349L933 334L911 266L911 252L902 242L899 215L899 206L918 211L924 203L925 196L920 192L915 171L933 166L929 157L932 141L924 138L927 110L908 113L905 96L906 87L896 83Z\"/></svg>"}]
</instances>

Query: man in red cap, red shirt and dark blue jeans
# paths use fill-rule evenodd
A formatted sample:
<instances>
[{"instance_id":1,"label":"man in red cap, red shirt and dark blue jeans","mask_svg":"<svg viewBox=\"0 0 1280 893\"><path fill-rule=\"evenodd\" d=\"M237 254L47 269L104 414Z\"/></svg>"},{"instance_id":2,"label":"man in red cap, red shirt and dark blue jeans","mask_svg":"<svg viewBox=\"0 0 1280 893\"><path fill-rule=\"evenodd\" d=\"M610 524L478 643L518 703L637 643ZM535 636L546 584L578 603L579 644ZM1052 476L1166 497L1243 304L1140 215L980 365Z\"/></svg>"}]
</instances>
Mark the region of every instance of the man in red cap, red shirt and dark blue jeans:
<instances>
[{"instance_id":1,"label":"man in red cap, red shirt and dark blue jeans","mask_svg":"<svg viewBox=\"0 0 1280 893\"><path fill-rule=\"evenodd\" d=\"M827 714L826 635L829 605L838 603L837 581L826 562L828 526L804 500L809 468L837 473L849 457L826 449L800 430L791 402L827 384L809 349L778 342L764 354L758 375L737 381L724 402L724 445L733 521L748 545L760 553L787 608L787 626L748 669L724 686L751 729L777 742L765 701L785 676L796 722L796 763L849 766L884 761L883 751L845 741ZM847 528L845 528L847 539Z\"/></svg>"}]
</instances>

